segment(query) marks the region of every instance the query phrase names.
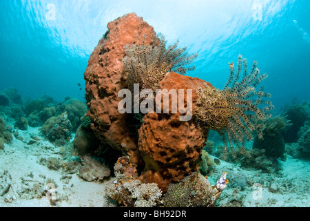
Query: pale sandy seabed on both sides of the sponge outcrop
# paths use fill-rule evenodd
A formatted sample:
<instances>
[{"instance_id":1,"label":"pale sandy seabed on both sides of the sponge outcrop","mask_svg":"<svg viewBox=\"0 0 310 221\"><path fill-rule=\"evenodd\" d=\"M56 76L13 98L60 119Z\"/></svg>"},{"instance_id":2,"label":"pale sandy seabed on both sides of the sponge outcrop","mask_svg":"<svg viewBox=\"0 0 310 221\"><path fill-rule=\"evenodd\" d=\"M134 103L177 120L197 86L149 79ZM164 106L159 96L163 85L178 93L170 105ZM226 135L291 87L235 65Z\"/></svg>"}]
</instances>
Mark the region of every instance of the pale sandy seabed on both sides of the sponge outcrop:
<instances>
[{"instance_id":1,"label":"pale sandy seabed on both sides of the sponge outcrop","mask_svg":"<svg viewBox=\"0 0 310 221\"><path fill-rule=\"evenodd\" d=\"M62 168L51 170L40 163L44 157L61 159L61 154L58 146L40 135L39 128L28 127L27 131L19 131L19 135L22 141L14 137L0 151L1 189L9 186L7 191L0 191L1 207L115 206L105 193L108 180L102 183L87 182L77 173L70 174ZM40 140L28 145L33 137L39 137ZM279 161L279 167L276 173L262 173L222 161L208 177L209 182L215 184L220 174L227 171L229 184L217 206L309 207L309 162L287 156L285 162ZM233 180L229 173L234 174ZM50 190L54 193L54 203L51 203L50 195L46 195L50 188L46 186L47 183L55 184ZM35 186L41 187L38 190Z\"/></svg>"}]
</instances>

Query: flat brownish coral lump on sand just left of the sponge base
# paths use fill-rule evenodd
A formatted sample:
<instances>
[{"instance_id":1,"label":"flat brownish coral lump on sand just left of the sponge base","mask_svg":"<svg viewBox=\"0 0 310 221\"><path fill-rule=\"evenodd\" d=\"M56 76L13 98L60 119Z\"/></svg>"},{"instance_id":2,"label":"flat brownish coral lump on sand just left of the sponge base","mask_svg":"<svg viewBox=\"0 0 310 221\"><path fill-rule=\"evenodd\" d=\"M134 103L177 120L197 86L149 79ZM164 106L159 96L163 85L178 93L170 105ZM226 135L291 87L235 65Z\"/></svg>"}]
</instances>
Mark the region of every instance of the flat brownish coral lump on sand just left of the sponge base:
<instances>
[{"instance_id":1,"label":"flat brownish coral lump on sand just left of the sponge base","mask_svg":"<svg viewBox=\"0 0 310 221\"><path fill-rule=\"evenodd\" d=\"M83 166L79 171L79 177L83 180L91 181L102 181L104 177L110 175L110 169L101 163L99 160L96 160L90 156L81 157Z\"/></svg>"}]
</instances>

